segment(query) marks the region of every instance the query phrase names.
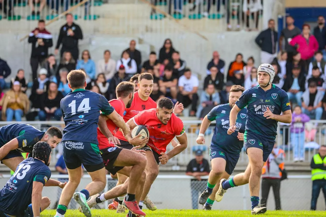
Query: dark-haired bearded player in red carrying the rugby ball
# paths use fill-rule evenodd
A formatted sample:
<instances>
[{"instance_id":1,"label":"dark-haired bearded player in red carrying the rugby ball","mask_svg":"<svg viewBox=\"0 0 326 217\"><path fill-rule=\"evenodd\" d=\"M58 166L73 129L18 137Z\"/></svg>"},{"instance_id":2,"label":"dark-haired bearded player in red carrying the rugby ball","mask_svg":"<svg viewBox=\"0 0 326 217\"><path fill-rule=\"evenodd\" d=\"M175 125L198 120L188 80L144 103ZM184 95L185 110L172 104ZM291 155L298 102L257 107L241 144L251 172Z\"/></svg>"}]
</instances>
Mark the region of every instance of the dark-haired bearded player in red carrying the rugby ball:
<instances>
[{"instance_id":1,"label":"dark-haired bearded player in red carrying the rugby ball","mask_svg":"<svg viewBox=\"0 0 326 217\"><path fill-rule=\"evenodd\" d=\"M146 151L147 158L146 182L141 195L141 201L143 201L158 175L159 162L166 164L170 158L185 150L187 135L182 121L173 113L173 102L166 97L158 100L157 108L141 111L127 124L130 129L135 128L136 125L145 125L150 135L147 145L141 148ZM165 153L167 145L174 137L177 137L179 144L169 153ZM128 216L132 216L130 212Z\"/></svg>"}]
</instances>

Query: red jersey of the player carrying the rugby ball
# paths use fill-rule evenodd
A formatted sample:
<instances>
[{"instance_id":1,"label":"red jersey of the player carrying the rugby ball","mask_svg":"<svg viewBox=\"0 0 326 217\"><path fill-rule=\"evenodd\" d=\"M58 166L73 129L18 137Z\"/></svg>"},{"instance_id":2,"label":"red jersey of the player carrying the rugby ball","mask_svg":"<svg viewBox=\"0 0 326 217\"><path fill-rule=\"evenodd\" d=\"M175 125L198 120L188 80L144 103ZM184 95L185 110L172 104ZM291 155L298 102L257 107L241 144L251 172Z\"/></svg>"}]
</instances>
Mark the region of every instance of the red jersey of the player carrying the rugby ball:
<instances>
[{"instance_id":1,"label":"red jersey of the player carrying the rugby ball","mask_svg":"<svg viewBox=\"0 0 326 217\"><path fill-rule=\"evenodd\" d=\"M174 136L180 137L185 133L185 127L180 118L172 113L170 120L164 125L157 118L155 108L140 112L135 116L134 122L136 125L147 127L149 132L147 145L158 154L166 152L166 147Z\"/></svg>"}]
</instances>

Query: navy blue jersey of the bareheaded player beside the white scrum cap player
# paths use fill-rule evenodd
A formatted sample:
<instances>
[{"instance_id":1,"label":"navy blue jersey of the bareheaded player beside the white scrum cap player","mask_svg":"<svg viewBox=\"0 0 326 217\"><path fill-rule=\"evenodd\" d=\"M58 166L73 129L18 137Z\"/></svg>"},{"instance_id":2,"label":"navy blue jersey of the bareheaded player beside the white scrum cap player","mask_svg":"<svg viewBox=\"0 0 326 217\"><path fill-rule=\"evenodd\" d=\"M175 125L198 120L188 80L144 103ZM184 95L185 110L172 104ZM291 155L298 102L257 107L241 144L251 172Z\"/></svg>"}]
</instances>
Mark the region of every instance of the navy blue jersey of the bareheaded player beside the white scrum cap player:
<instances>
[{"instance_id":1,"label":"navy blue jersey of the bareheaded player beside the white scrum cap player","mask_svg":"<svg viewBox=\"0 0 326 217\"><path fill-rule=\"evenodd\" d=\"M244 133L245 123L247 120L247 109L243 108L238 113L235 123L235 133L228 135L230 127L230 104L215 106L207 115L208 120L215 121L216 126L212 138L212 145L219 146L230 153L239 154L244 145L244 141L240 141L237 136L238 132Z\"/></svg>"}]
</instances>

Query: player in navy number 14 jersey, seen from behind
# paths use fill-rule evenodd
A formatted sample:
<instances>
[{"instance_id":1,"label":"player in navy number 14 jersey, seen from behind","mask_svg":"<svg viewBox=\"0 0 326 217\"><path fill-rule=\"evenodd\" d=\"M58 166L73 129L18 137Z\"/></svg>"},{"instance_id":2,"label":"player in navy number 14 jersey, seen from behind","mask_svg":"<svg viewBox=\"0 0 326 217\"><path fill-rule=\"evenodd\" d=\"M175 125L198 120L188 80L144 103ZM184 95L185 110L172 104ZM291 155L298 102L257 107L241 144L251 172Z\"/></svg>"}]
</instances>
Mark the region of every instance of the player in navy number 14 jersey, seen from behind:
<instances>
[{"instance_id":1,"label":"player in navy number 14 jersey, seen from behind","mask_svg":"<svg viewBox=\"0 0 326 217\"><path fill-rule=\"evenodd\" d=\"M99 111L107 115L125 134L129 133L130 129L104 96L85 90L86 75L82 70L70 71L67 80L72 92L61 100L60 107L66 124L62 142L69 181L62 191L55 216L65 215L67 205L73 196L81 205L82 212L90 217L91 211L86 200L90 195L103 190L106 185L105 168L97 142ZM115 143L112 135L109 141ZM74 193L81 180L82 164L91 176L92 182L81 192Z\"/></svg>"}]
</instances>

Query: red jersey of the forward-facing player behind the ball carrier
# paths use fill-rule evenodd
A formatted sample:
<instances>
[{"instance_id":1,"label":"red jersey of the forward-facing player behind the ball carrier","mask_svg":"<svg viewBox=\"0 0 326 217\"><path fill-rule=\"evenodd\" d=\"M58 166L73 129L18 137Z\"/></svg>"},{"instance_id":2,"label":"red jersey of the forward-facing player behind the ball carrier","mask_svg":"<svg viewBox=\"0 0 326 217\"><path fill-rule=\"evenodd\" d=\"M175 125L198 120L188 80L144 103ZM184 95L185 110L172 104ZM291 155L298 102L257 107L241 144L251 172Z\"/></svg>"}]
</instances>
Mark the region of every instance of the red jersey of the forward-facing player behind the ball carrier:
<instances>
[{"instance_id":1,"label":"red jersey of the forward-facing player behind the ball carrier","mask_svg":"<svg viewBox=\"0 0 326 217\"><path fill-rule=\"evenodd\" d=\"M146 100L146 101L142 100L139 97L138 91L137 91L134 94L134 99L132 100L130 108L126 108L125 113L124 113L125 116L123 117L123 119L127 123L127 121L129 121L129 119L135 117L135 115L137 115L139 112L141 112L143 110L150 109L150 108L156 108L156 102L151 97L148 97L148 100ZM127 141L121 131L118 131L116 133L115 137L117 137L118 139Z\"/></svg>"}]
</instances>

